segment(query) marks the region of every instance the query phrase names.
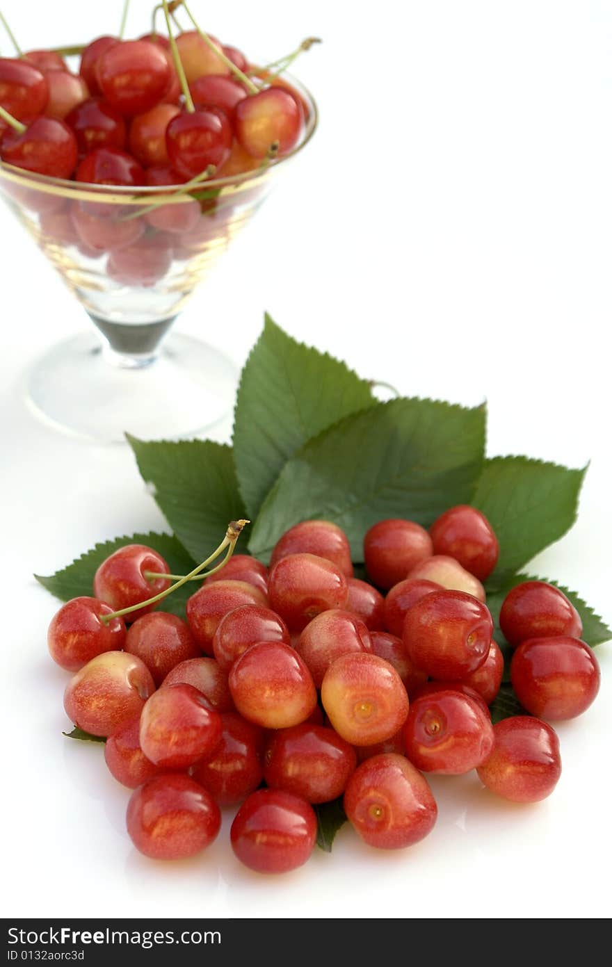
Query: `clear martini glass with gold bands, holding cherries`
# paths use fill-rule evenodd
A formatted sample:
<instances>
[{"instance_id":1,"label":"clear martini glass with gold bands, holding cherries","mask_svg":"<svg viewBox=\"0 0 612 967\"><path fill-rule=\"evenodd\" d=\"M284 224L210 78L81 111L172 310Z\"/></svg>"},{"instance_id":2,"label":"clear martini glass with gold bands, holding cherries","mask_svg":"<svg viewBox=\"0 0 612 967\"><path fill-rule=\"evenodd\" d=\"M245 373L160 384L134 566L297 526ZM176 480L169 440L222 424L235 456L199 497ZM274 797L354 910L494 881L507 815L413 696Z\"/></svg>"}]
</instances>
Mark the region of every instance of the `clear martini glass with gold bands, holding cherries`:
<instances>
[{"instance_id":1,"label":"clear martini glass with gold bands, holding cherries","mask_svg":"<svg viewBox=\"0 0 612 967\"><path fill-rule=\"evenodd\" d=\"M219 350L171 333L196 285L305 147L186 191L83 185L0 162L0 195L85 308L93 327L33 366L27 398L55 428L99 442L193 435L230 410L237 372Z\"/></svg>"}]
</instances>

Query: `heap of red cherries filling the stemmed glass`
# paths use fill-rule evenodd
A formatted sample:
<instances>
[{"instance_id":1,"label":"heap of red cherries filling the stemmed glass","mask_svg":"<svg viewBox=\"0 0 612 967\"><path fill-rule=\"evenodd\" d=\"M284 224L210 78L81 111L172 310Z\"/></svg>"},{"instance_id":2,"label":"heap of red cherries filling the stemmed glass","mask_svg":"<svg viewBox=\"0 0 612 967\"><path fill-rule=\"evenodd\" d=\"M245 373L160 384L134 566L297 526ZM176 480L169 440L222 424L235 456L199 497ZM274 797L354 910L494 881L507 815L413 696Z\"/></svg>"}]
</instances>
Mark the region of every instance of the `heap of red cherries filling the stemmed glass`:
<instances>
[{"instance_id":1,"label":"heap of red cherries filling the stemmed glass","mask_svg":"<svg viewBox=\"0 0 612 967\"><path fill-rule=\"evenodd\" d=\"M0 58L2 161L84 188L157 192L134 217L137 208L102 198L69 202L7 188L38 212L45 238L91 258L109 253L108 274L124 284L152 285L173 257L189 258L215 237L227 206L215 220L219 199L194 197L189 187L287 154L300 141L307 112L282 76L257 73L240 50L199 29L176 39L99 37L82 49L78 74L54 50ZM176 195L180 186L182 203L160 203L160 189Z\"/></svg>"}]
</instances>

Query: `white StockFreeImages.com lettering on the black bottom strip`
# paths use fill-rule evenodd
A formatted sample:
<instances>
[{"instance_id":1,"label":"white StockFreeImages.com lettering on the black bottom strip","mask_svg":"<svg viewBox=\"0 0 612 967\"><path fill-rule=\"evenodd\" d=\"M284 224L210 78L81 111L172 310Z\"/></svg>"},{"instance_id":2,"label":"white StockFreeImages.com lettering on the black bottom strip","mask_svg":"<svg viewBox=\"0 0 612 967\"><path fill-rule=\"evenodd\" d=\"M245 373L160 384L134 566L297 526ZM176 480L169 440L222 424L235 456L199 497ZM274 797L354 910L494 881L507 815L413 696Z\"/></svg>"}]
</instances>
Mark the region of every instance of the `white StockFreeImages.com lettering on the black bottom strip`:
<instances>
[{"instance_id":1,"label":"white StockFreeImages.com lettering on the black bottom strip","mask_svg":"<svg viewBox=\"0 0 612 967\"><path fill-rule=\"evenodd\" d=\"M45 927L43 930L22 930L16 926L9 927L9 960L19 957L17 947L89 947L123 945L126 947L141 947L150 950L152 947L162 947L164 944L220 944L219 930L113 930L105 927L102 930L73 930L70 926Z\"/></svg>"}]
</instances>

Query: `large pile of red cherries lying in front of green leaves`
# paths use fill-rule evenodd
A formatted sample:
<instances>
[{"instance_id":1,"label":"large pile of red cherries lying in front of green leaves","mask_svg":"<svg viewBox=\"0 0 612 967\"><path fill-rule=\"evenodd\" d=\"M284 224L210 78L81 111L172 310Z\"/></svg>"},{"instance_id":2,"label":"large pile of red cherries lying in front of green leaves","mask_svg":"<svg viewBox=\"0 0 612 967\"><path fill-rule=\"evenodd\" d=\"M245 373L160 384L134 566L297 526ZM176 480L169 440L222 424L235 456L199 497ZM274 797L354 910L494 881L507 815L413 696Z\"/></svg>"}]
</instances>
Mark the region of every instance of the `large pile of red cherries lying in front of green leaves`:
<instances>
[{"instance_id":1,"label":"large pile of red cherries lying in front of green leaves","mask_svg":"<svg viewBox=\"0 0 612 967\"><path fill-rule=\"evenodd\" d=\"M433 828L428 773L476 769L506 799L548 796L561 758L542 718L589 707L597 659L557 588L518 584L500 624L530 714L491 723L504 660L481 581L497 558L474 508L452 508L429 531L383 520L364 538L370 584L354 577L344 532L309 520L280 538L270 570L235 555L203 575L184 621L152 610L184 580L166 576L160 554L135 544L111 554L96 597L66 603L48 645L75 672L69 718L107 737L108 769L134 790L135 846L156 859L191 856L218 834L219 806L240 806L234 853L280 872L314 848L313 805L342 795L357 833L385 849Z\"/></svg>"}]
</instances>

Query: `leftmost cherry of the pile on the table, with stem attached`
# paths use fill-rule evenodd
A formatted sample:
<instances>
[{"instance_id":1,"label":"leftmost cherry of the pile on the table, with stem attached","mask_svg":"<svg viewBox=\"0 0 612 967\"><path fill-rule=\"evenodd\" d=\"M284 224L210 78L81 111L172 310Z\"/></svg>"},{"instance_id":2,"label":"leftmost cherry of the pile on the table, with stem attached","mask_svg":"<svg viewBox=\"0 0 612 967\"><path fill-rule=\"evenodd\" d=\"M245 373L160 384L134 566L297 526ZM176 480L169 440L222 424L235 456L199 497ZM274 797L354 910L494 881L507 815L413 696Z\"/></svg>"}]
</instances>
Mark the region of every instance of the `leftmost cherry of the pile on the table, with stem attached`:
<instances>
[{"instance_id":1,"label":"leftmost cherry of the pile on the table, with stem attached","mask_svg":"<svg viewBox=\"0 0 612 967\"><path fill-rule=\"evenodd\" d=\"M46 641L51 658L68 671L78 671L103 652L120 651L126 640L123 618L105 625L101 615L112 608L96 598L73 598L51 620Z\"/></svg>"}]
</instances>

